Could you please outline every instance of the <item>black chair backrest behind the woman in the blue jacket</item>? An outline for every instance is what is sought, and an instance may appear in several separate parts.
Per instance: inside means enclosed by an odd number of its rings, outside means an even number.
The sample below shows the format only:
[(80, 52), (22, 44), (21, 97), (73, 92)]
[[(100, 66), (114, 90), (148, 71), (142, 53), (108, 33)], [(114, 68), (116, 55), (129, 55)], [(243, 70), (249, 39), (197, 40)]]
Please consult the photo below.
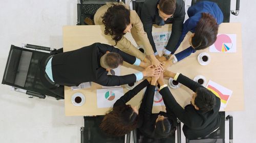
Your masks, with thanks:
[(223, 16), (224, 16), (223, 22), (229, 22), (229, 20), (230, 20), (230, 1), (231, 0), (225, 0), (225, 1), (223, 1), (223, 0), (193, 0), (193, 1), (191, 1), (191, 6), (200, 1), (210, 1), (210, 2), (217, 3), (223, 13)]

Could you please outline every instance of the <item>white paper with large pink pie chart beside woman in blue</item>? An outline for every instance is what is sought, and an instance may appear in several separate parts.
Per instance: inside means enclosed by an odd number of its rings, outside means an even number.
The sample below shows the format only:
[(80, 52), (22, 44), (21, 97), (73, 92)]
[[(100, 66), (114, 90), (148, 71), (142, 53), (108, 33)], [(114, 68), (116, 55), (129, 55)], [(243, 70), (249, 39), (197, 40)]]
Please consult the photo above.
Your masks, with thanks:
[(210, 46), (210, 52), (236, 52), (236, 34), (218, 34), (217, 40)]

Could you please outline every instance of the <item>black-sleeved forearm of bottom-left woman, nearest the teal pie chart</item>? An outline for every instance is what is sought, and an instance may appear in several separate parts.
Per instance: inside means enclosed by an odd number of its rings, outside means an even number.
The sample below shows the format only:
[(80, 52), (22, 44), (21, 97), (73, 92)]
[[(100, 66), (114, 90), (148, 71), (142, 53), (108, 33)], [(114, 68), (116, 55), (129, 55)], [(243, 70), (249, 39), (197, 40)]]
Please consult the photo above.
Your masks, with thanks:
[(143, 88), (146, 87), (148, 84), (148, 81), (145, 79), (142, 82), (140, 82), (134, 89), (126, 92), (121, 98), (119, 98), (115, 104), (115, 106), (124, 105), (128, 101), (130, 101), (135, 95), (137, 95)]

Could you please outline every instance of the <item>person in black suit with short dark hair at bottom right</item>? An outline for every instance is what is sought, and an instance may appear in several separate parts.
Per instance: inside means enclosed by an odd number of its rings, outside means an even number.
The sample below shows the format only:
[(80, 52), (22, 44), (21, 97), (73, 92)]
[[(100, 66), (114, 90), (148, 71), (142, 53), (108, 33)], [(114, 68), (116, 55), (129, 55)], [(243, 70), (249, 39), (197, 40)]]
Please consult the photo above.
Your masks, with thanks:
[(191, 103), (183, 109), (170, 93), (167, 85), (163, 81), (163, 75), (160, 75), (158, 83), (160, 84), (159, 93), (163, 97), (166, 108), (172, 110), (177, 118), (183, 122), (183, 132), (186, 138), (196, 139), (204, 137), (220, 126), (220, 105), (221, 101), (215, 94), (204, 88), (198, 82), (189, 79), (182, 74), (175, 74), (170, 71), (166, 75), (174, 78), (189, 89), (193, 90)]

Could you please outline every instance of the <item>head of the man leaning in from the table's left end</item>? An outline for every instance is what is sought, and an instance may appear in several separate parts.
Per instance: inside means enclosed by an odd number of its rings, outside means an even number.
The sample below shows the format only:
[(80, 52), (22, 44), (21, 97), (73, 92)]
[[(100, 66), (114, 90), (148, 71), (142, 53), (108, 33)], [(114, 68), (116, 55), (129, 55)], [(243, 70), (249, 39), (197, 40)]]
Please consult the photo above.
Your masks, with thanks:
[(100, 58), (100, 65), (105, 69), (115, 69), (123, 64), (123, 58), (119, 53), (106, 52)]

